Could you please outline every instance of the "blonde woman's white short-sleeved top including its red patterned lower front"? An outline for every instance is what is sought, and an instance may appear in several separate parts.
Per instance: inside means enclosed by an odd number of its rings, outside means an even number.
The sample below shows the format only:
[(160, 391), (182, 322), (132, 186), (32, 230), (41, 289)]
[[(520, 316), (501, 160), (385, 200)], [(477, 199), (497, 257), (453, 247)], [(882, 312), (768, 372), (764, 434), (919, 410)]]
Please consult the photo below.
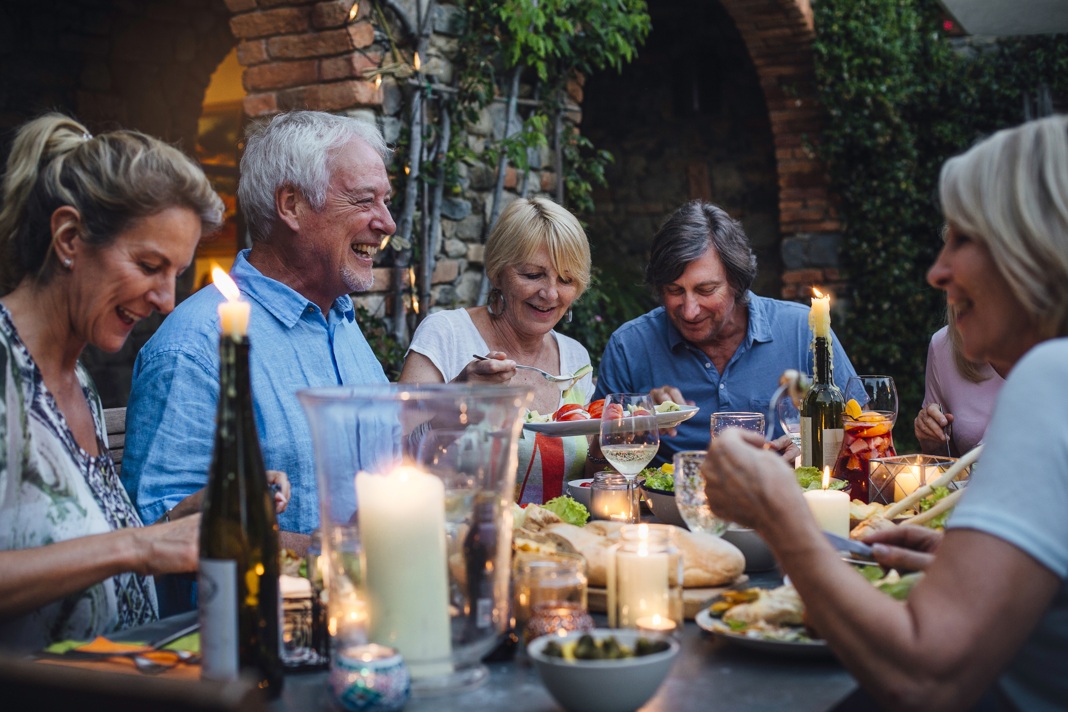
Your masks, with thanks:
[[(560, 349), (560, 371), (574, 374), (582, 366), (590, 365), (590, 353), (585, 347), (570, 336), (550, 331)], [(408, 353), (415, 351), (430, 360), (445, 382), (459, 376), (464, 367), (474, 361), (473, 354), (483, 355), (489, 351), (486, 339), (478, 333), (466, 308), (446, 310), (431, 314), (419, 325)], [(594, 393), (593, 375), (586, 374), (568, 392), (567, 402), (590, 402)], [(557, 408), (565, 402), (561, 394)], [(533, 432), (522, 431), (519, 441), (519, 471), (516, 473), (516, 501), (519, 504), (534, 502), (543, 504), (559, 494), (567, 494), (562, 482), (585, 476), (587, 442), (578, 438), (535, 438)], [(549, 472), (544, 472), (548, 469)]]

